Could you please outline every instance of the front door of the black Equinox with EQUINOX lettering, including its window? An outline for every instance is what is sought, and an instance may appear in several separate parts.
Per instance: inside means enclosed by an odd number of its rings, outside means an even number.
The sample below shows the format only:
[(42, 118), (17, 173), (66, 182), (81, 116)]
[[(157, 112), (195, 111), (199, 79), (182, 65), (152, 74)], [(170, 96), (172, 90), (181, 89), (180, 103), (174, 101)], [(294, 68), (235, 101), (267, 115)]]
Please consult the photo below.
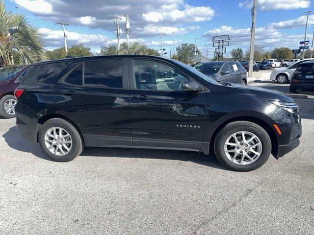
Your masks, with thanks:
[(133, 147), (200, 150), (205, 91), (183, 91), (193, 79), (163, 61), (130, 59), (128, 68)]

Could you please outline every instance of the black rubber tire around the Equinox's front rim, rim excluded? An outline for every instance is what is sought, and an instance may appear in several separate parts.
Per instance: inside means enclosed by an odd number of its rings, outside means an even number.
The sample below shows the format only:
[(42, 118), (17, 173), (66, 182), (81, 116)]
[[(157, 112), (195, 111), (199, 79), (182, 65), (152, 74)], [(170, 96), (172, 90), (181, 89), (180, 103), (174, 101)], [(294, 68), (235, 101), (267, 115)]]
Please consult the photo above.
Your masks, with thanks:
[[(240, 131), (253, 133), (262, 143), (260, 157), (251, 164), (241, 165), (233, 163), (225, 154), (224, 146), (228, 137)], [(267, 132), (261, 126), (249, 121), (235, 121), (225, 125), (215, 136), (213, 147), (218, 161), (227, 168), (235, 171), (250, 171), (261, 167), (268, 160), (271, 153), (271, 141)]]

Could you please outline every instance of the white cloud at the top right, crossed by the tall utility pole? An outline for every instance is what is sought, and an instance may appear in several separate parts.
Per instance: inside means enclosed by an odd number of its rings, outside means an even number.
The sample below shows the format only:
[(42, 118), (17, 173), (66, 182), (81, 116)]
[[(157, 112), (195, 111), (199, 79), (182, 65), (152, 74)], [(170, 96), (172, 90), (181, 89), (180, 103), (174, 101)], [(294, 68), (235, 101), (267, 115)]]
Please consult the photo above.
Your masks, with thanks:
[[(262, 11), (271, 10), (292, 10), (300, 8), (308, 8), (311, 0), (259, 0), (258, 8)], [(253, 0), (245, 0), (239, 3), (239, 7), (250, 9), (253, 6)]]

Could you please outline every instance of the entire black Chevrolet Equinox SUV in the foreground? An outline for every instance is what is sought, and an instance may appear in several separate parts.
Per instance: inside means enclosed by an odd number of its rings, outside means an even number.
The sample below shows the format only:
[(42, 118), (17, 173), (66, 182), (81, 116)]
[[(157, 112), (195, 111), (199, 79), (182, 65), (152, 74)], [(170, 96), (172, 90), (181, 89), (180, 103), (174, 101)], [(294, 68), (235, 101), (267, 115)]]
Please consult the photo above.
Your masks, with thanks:
[(86, 147), (202, 151), (253, 170), (298, 146), (301, 120), (287, 95), (217, 82), (172, 59), (141, 55), (34, 64), (16, 89), (17, 129), (66, 162)]

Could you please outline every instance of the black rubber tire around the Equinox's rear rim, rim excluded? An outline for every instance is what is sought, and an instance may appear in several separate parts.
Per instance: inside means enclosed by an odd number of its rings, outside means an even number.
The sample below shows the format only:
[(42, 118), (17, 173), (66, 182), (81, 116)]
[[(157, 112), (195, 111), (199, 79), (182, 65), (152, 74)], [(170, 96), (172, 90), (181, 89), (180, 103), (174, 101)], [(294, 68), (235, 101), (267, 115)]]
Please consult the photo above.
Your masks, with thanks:
[[(60, 127), (68, 132), (71, 136), (72, 147), (68, 153), (63, 156), (53, 154), (48, 150), (45, 144), (45, 134), (52, 127)], [(61, 118), (52, 118), (46, 121), (39, 130), (38, 141), (43, 152), (57, 162), (69, 162), (75, 159), (84, 149), (84, 143), (76, 127), (68, 121)]]

